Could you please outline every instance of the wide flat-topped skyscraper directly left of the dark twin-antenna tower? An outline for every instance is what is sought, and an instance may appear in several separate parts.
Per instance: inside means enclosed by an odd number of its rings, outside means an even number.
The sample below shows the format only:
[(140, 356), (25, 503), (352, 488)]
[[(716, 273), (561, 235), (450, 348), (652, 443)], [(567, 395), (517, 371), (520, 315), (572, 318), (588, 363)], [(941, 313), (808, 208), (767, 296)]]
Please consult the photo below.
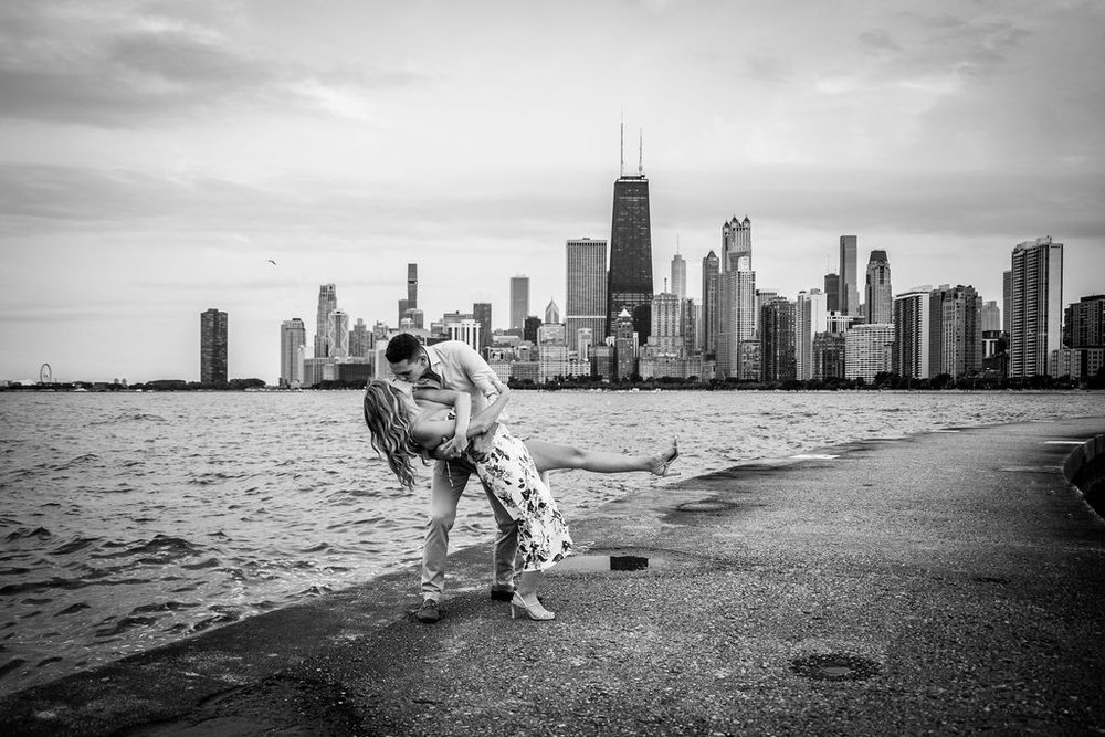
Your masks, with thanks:
[(602, 343), (607, 336), (607, 242), (569, 239), (565, 242), (565, 263), (564, 324), (569, 348), (582, 354), (579, 330), (589, 329), (594, 343)]

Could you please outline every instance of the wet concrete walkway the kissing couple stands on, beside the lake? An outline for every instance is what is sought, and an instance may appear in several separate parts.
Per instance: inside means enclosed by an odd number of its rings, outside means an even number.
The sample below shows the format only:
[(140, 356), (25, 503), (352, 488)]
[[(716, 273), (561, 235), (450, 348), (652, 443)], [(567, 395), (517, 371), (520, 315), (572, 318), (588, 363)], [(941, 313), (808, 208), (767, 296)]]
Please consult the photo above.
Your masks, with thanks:
[(435, 625), (406, 617), (404, 570), (15, 694), (0, 731), (1103, 733), (1105, 523), (1063, 470), (1102, 433), (965, 429), (644, 482), (569, 520), (590, 549), (548, 577), (552, 622), (488, 599), (480, 547), (451, 556)]

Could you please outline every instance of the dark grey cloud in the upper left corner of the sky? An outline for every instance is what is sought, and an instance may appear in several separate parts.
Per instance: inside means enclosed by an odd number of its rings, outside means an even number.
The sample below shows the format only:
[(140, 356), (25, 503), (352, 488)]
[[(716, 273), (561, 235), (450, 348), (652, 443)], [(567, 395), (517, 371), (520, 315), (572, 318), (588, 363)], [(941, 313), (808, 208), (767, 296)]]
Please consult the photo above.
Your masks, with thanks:
[(4, 4), (0, 45), (0, 117), (109, 128), (233, 108), (364, 117), (352, 98), (419, 78), (312, 69), (211, 25), (113, 3)]

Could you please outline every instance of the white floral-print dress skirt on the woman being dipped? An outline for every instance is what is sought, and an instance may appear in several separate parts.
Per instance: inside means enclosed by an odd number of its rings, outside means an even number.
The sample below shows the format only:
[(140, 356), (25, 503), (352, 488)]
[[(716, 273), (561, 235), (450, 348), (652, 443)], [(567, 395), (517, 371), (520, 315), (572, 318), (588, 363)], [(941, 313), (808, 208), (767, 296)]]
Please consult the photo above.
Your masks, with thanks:
[(525, 444), (498, 424), (491, 450), (470, 448), (469, 459), (480, 481), (518, 520), (522, 569), (545, 570), (562, 560), (571, 550), (568, 525)]

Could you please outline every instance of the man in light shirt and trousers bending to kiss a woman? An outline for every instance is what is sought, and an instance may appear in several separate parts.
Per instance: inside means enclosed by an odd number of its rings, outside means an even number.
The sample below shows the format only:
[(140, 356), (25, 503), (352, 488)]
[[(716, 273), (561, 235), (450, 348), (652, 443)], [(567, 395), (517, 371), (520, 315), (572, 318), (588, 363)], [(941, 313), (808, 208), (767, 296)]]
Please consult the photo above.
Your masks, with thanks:
[[(490, 403), (488, 397), (498, 393), (495, 388), (498, 377), (487, 366), (487, 361), (466, 343), (446, 340), (423, 346), (413, 335), (400, 333), (388, 341), (383, 355), (391, 365), (391, 372), (403, 381), (467, 392), (472, 397), (470, 430), (474, 429), (477, 433), (488, 430), (491, 425), (486, 420), (481, 422), (480, 414)], [(439, 459), (434, 464), (430, 486), (430, 520), (427, 523), (422, 547), (422, 606), (415, 612), (420, 622), (432, 623), (441, 619), (449, 533), (456, 519), (456, 504), (464, 493), (469, 476), (474, 473), (472, 464), (459, 454)], [(514, 597), (517, 523), (486, 486), (484, 492), (491, 502), (499, 530), (495, 543), (495, 578), (491, 596), (493, 599), (509, 601)]]

